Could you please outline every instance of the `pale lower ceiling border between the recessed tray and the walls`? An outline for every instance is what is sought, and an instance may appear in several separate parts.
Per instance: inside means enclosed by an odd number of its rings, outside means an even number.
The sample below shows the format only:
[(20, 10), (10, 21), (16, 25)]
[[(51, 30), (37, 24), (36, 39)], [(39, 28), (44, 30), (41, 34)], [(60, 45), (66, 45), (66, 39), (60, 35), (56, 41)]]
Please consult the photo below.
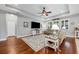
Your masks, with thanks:
[[(5, 7), (5, 6), (10, 7), (10, 8), (14, 8), (14, 9), (16, 9), (16, 11), (7, 9), (7, 7)], [(30, 19), (34, 19), (34, 20), (37, 20), (37, 21), (49, 21), (49, 20), (56, 19), (56, 18), (66, 18), (66, 17), (70, 17), (70, 16), (73, 16), (73, 15), (79, 14), (79, 13), (75, 13), (75, 14), (70, 13), (69, 6), (66, 5), (66, 7), (68, 9), (67, 11), (65, 11), (63, 13), (59, 13), (57, 15), (53, 15), (53, 16), (49, 16), (49, 17), (43, 17), (45, 20), (41, 20), (42, 17), (37, 16), (35, 14), (32, 14), (31, 12), (28, 12), (26, 10), (23, 10), (18, 6), (14, 6), (14, 5), (10, 5), (10, 4), (5, 4), (3, 7), (0, 6), (0, 10), (5, 12), (5, 13), (15, 14), (15, 15), (18, 15), (20, 17), (30, 18)]]

